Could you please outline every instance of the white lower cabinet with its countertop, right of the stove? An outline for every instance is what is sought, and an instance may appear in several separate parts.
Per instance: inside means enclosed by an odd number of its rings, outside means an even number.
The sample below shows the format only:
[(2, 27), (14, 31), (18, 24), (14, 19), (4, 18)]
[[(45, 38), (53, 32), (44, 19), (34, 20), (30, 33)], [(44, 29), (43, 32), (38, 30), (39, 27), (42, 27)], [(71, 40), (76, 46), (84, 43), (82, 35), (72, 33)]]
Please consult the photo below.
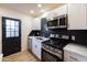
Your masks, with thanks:
[(87, 62), (87, 47), (68, 44), (64, 47), (65, 62)]

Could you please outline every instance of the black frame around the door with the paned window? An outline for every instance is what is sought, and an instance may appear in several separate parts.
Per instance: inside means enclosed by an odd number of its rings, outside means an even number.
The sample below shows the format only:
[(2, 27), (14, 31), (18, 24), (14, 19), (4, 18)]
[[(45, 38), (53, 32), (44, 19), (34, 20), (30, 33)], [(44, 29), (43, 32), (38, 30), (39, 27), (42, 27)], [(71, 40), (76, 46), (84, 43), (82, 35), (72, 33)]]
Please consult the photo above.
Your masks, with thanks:
[(21, 40), (22, 40), (22, 37), (21, 37), (21, 35), (22, 35), (22, 33), (21, 33), (21, 32), (22, 32), (21, 20), (20, 20), (20, 19), (14, 19), (14, 18), (1, 17), (1, 21), (2, 21), (2, 22), (1, 22), (1, 24), (2, 24), (2, 25), (1, 25), (1, 29), (2, 29), (2, 30), (1, 30), (1, 31), (2, 31), (2, 37), (1, 37), (1, 39), (2, 39), (2, 44), (1, 44), (1, 50), (2, 50), (2, 53), (3, 53), (3, 39), (4, 39), (4, 37), (3, 37), (3, 21), (4, 21), (4, 19), (14, 20), (14, 21), (19, 21), (19, 22), (20, 22), (20, 25), (19, 25), (19, 26), (20, 26), (20, 30), (19, 30), (19, 31), (20, 31), (20, 45), (21, 45), (20, 52), (21, 52), (21, 50), (22, 50), (22, 43), (21, 43)]

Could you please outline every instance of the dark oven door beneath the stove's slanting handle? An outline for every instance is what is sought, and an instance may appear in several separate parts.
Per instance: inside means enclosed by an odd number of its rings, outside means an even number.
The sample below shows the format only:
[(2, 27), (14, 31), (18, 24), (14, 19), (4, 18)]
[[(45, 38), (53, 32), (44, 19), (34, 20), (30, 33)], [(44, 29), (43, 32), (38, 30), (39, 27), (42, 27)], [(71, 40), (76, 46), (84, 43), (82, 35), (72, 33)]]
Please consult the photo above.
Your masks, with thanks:
[(61, 62), (61, 59), (42, 48), (42, 62)]

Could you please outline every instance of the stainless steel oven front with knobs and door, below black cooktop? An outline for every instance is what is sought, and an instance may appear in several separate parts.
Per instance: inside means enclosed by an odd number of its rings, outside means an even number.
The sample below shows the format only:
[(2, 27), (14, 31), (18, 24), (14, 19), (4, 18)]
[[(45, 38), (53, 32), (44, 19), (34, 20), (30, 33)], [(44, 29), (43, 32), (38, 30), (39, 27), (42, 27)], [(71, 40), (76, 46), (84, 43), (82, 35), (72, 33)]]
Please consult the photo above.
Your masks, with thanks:
[(43, 62), (62, 62), (63, 50), (58, 50), (47, 44), (42, 44), (42, 61)]

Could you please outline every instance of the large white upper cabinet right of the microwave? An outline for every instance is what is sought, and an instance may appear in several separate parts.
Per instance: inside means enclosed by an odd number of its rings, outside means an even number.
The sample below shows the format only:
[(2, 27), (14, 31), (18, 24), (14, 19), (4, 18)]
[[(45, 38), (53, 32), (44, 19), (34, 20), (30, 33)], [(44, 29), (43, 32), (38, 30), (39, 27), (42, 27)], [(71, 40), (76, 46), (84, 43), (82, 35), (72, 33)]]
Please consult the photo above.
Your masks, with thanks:
[(87, 29), (87, 4), (70, 3), (68, 4), (68, 30)]

